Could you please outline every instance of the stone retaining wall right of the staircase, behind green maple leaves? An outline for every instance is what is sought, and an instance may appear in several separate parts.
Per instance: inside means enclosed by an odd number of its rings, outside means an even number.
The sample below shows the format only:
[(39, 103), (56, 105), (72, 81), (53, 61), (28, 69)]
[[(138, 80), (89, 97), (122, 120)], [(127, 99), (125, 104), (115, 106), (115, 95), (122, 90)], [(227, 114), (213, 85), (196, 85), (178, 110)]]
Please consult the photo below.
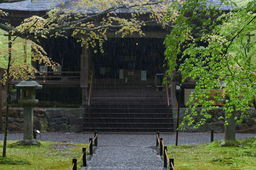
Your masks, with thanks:
[[(197, 112), (197, 116), (193, 116), (193, 119), (195, 120), (195, 122), (193, 122), (193, 125), (191, 126), (187, 126), (187, 124), (185, 124), (185, 130), (179, 130), (179, 131), (183, 131), (183, 132), (208, 132), (211, 131), (211, 129), (214, 129), (214, 131), (224, 131), (225, 127), (224, 127), (224, 122), (225, 122), (225, 112), (223, 112), (223, 108), (220, 107), (218, 109), (212, 109), (210, 111), (207, 111), (208, 114), (210, 114), (212, 116), (211, 119), (206, 119), (206, 124), (204, 124), (203, 126), (199, 127), (198, 129), (194, 129), (193, 126), (199, 122), (201, 120), (201, 118), (203, 118), (203, 116), (200, 115), (200, 111), (202, 110), (202, 108), (196, 108), (196, 112)], [(178, 109), (177, 108), (173, 108), (173, 121), (174, 121), (174, 127), (177, 127), (177, 112)], [(184, 118), (184, 113), (186, 111), (186, 108), (180, 108), (180, 117), (179, 117), (179, 124), (182, 122), (182, 119)], [(189, 112), (191, 112), (189, 110)], [(238, 111), (236, 113), (236, 116), (238, 117), (238, 119), (240, 119), (240, 115), (241, 113)], [(236, 130), (245, 130), (245, 129), (250, 129), (253, 127), (256, 127), (256, 110), (254, 107), (251, 107), (248, 110), (248, 115), (246, 118), (242, 119), (242, 123), (237, 124), (236, 123)], [(222, 116), (222, 119), (218, 120), (219, 117)], [(253, 133), (256, 134), (256, 128), (255, 129), (251, 129), (251, 130), (245, 130), (245, 131), (241, 131), (240, 133)]]

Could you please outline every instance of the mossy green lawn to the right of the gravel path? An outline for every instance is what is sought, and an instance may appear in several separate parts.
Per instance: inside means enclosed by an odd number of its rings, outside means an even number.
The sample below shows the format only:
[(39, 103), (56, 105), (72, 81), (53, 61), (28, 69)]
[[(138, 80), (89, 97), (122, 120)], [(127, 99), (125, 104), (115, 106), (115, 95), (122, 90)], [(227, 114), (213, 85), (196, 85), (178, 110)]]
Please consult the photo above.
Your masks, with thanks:
[(221, 147), (221, 141), (198, 145), (168, 145), (176, 170), (256, 170), (254, 138), (240, 140), (242, 147)]

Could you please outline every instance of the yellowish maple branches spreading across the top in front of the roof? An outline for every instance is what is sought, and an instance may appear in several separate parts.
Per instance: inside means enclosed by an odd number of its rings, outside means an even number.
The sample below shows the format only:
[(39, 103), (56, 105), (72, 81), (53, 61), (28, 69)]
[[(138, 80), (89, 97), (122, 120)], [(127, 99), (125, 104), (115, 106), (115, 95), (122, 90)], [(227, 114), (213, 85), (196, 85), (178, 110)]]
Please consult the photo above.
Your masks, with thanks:
[[(33, 16), (24, 20), (23, 29), (30, 27), (27, 34), (37, 36), (71, 36), (81, 37), (86, 48), (95, 47), (99, 41), (99, 49), (107, 40), (106, 33), (114, 32), (121, 37), (138, 33), (143, 36), (142, 27), (147, 24), (160, 25), (163, 28), (173, 27), (177, 10), (167, 20), (163, 20), (168, 5), (172, 0), (81, 0), (74, 1), (69, 9), (54, 8), (46, 16)], [(60, 1), (61, 3), (61, 1)], [(33, 25), (33, 26), (32, 26)], [(0, 24), (5, 31), (18, 30), (11, 25)], [(79, 36), (77, 36), (79, 35)], [(97, 51), (95, 51), (97, 52)]]

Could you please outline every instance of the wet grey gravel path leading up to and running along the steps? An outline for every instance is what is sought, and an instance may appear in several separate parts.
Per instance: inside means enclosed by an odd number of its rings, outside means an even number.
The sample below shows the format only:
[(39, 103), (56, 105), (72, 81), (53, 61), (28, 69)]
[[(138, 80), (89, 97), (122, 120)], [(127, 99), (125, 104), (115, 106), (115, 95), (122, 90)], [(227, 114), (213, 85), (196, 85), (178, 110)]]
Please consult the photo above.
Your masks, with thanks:
[[(191, 135), (197, 133), (179, 133), (179, 135)], [(175, 134), (173, 134), (175, 135)], [(179, 136), (178, 145), (197, 144), (210, 142), (210, 133)], [(253, 138), (255, 134), (236, 134), (237, 139)], [(8, 134), (8, 140), (22, 139), (23, 134)], [(55, 142), (89, 143), (89, 138), (94, 135), (49, 134), (41, 133), (38, 140)], [(175, 145), (175, 136), (161, 135), (164, 145)], [(224, 133), (215, 133), (214, 141), (221, 141)], [(4, 134), (0, 134), (0, 140)], [(93, 156), (88, 156), (87, 168), (83, 170), (162, 170), (163, 161), (155, 149), (155, 135), (138, 134), (98, 134), (98, 147), (94, 147)]]

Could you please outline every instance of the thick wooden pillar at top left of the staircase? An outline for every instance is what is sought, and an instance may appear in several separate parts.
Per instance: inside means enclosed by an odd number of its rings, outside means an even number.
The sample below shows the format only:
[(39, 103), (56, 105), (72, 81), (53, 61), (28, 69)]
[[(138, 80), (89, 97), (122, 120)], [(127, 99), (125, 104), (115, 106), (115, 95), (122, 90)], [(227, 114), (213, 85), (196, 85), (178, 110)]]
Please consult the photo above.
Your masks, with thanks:
[(88, 87), (88, 72), (89, 72), (89, 58), (90, 52), (86, 47), (82, 47), (81, 55), (81, 71), (80, 71), (80, 87), (82, 90), (82, 106), (86, 104), (87, 87)]

